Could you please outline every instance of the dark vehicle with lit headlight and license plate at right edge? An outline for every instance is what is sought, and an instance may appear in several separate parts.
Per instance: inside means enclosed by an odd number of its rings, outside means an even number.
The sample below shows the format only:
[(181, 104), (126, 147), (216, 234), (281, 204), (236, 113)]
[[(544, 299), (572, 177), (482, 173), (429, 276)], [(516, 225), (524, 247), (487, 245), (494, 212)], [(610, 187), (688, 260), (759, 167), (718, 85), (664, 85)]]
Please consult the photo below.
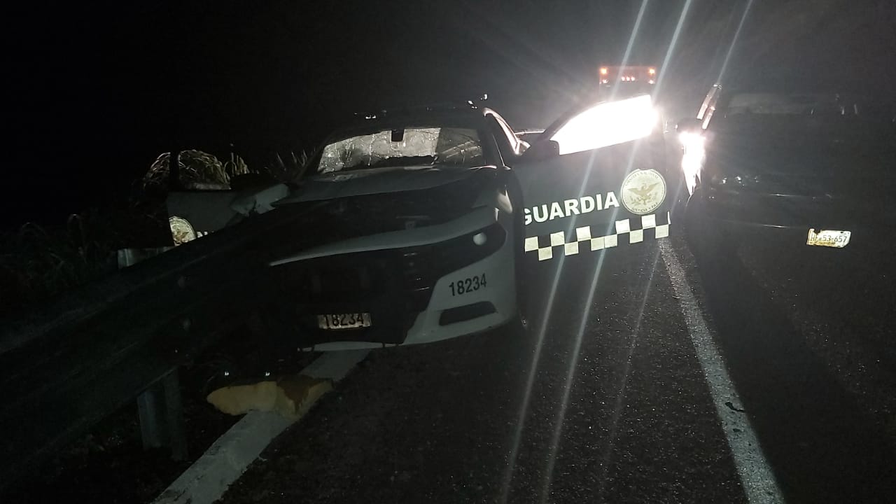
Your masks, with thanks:
[(696, 248), (745, 236), (829, 248), (890, 239), (892, 103), (849, 92), (755, 89), (716, 85), (697, 117), (678, 125)]

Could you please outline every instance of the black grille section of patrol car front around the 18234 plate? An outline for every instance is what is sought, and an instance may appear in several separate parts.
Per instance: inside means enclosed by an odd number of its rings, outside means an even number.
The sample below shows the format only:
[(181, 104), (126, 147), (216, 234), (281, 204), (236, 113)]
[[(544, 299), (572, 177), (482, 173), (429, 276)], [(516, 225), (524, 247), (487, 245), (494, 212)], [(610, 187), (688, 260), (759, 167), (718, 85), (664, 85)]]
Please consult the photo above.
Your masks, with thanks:
[[(486, 243), (466, 234), (435, 245), (327, 256), (271, 267), (278, 296), (271, 315), (284, 337), (308, 345), (332, 341), (402, 343), (426, 309), (435, 282), (444, 274), (495, 252), (506, 239), (494, 224), (479, 230)], [(327, 331), (317, 315), (370, 313), (371, 327)]]

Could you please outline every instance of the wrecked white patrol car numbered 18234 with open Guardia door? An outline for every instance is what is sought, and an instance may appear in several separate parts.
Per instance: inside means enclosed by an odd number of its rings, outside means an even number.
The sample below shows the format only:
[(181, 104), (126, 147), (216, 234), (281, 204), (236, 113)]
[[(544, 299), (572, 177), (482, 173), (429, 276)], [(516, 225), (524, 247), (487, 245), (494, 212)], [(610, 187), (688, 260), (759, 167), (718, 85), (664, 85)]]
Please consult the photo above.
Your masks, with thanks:
[(330, 135), (295, 185), (231, 198), (220, 212), (173, 194), (169, 214), (208, 232), (234, 211), (301, 213), (263, 301), (271, 334), (293, 348), (524, 326), (524, 264), (596, 260), (668, 236), (665, 164), (651, 158), (663, 150), (642, 145), (656, 138), (653, 114), (648, 95), (591, 105), (530, 146), (487, 108), (381, 113)]

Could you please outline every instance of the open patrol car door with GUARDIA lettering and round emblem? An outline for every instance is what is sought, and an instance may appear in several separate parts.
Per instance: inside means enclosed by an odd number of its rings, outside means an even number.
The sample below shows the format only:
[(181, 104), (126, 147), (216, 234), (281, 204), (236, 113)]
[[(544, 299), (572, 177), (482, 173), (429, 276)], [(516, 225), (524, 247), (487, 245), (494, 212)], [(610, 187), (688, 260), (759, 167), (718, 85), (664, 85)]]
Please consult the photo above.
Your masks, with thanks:
[(670, 232), (663, 135), (649, 95), (573, 110), (514, 163), (524, 260), (625, 255)]

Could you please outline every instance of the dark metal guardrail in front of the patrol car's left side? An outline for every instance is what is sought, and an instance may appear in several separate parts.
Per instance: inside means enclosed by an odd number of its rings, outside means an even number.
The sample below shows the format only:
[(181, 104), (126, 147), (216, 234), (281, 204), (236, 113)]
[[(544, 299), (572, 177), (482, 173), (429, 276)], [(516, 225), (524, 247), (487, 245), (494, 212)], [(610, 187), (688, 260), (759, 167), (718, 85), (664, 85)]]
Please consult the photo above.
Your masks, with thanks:
[(240, 222), (0, 329), (0, 488), (246, 320), (299, 214)]

